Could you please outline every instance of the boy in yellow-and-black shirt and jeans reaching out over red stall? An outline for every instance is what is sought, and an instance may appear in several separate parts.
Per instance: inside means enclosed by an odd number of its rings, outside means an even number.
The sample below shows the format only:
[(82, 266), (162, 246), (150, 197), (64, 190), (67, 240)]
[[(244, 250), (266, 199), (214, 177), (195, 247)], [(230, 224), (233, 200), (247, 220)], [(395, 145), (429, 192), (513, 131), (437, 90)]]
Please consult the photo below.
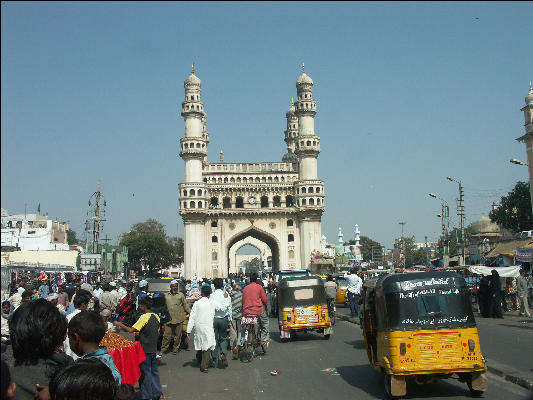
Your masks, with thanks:
[(122, 322), (114, 322), (115, 326), (139, 335), (141, 346), (146, 354), (146, 360), (141, 364), (141, 379), (139, 380), (141, 399), (143, 400), (158, 400), (163, 395), (156, 358), (157, 341), (159, 338), (159, 317), (157, 314), (151, 312), (151, 309), (152, 298), (145, 296), (139, 300), (139, 310), (143, 314), (131, 328)]

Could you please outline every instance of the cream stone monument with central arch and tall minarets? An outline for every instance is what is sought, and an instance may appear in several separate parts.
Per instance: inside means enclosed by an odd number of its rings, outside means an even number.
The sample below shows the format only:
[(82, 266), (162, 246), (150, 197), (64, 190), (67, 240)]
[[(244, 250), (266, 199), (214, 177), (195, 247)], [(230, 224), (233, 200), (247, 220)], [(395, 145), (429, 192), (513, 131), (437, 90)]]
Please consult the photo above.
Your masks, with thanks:
[(281, 162), (225, 163), (222, 154), (218, 163), (207, 161), (209, 133), (194, 66), (184, 86), (180, 156), (185, 182), (179, 186), (179, 213), (185, 276), (237, 272), (230, 253), (247, 242), (268, 247), (274, 271), (307, 268), (311, 252), (320, 248), (325, 207), (324, 182), (317, 177), (320, 138), (314, 128), (313, 80), (305, 69), (296, 80), (298, 100), (286, 114), (287, 153)]

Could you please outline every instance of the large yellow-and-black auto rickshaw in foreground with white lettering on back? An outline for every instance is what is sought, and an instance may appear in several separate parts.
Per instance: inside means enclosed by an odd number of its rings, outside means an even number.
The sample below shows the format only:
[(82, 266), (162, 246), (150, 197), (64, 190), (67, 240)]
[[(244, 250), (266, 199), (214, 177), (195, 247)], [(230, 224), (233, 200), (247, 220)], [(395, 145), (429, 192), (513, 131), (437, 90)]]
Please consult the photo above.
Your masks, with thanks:
[(363, 284), (363, 336), (370, 364), (385, 374), (391, 398), (449, 378), (473, 395), (487, 390), (487, 366), (465, 280), (454, 272), (383, 275)]

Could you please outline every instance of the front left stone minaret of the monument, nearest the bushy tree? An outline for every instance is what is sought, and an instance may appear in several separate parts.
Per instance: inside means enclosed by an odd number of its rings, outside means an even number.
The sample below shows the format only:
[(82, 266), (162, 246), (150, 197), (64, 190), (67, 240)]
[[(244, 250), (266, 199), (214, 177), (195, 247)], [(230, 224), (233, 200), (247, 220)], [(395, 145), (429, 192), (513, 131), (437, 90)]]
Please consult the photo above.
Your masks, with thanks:
[(180, 140), (180, 157), (185, 161), (185, 179), (180, 185), (180, 214), (185, 230), (185, 276), (204, 275), (205, 230), (203, 218), (207, 208), (206, 185), (202, 180), (202, 165), (207, 159), (209, 135), (206, 114), (201, 101), (202, 82), (192, 72), (183, 84), (185, 101), (181, 116), (185, 120), (185, 137)]

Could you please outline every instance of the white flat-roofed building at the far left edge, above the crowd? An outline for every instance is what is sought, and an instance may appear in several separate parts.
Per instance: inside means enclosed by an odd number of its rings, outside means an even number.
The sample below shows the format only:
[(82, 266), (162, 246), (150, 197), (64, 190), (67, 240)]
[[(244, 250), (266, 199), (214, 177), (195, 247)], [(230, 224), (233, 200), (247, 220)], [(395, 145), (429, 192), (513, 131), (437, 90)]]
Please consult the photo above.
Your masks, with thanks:
[(68, 224), (39, 214), (15, 214), (2, 209), (2, 248), (68, 250)]

